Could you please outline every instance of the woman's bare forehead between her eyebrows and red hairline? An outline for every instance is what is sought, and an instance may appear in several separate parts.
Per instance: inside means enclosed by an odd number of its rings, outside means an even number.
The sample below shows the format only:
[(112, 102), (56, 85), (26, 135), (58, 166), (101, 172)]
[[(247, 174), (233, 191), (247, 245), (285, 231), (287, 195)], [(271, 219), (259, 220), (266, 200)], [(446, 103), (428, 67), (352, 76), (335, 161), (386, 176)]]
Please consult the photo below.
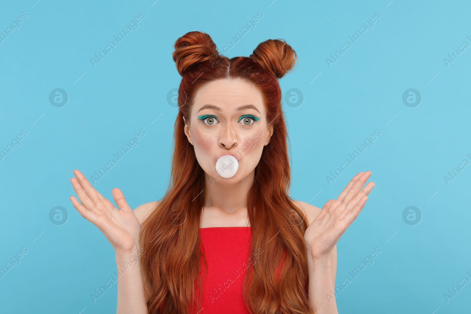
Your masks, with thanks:
[(215, 80), (203, 85), (195, 95), (194, 110), (203, 105), (217, 105), (222, 109), (252, 104), (264, 110), (263, 97), (259, 89), (241, 79)]

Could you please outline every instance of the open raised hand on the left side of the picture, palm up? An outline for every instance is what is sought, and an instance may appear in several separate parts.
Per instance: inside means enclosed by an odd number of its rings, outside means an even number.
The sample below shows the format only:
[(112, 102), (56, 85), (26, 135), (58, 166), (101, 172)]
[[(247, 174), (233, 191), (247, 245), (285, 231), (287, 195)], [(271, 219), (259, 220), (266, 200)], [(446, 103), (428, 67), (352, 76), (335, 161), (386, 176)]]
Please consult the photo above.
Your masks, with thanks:
[(73, 196), (69, 199), (73, 207), (106, 236), (116, 253), (128, 254), (139, 250), (141, 225), (134, 211), (129, 207), (120, 189), (111, 192), (119, 209), (93, 188), (87, 178), (77, 169), (70, 179), (81, 203)]

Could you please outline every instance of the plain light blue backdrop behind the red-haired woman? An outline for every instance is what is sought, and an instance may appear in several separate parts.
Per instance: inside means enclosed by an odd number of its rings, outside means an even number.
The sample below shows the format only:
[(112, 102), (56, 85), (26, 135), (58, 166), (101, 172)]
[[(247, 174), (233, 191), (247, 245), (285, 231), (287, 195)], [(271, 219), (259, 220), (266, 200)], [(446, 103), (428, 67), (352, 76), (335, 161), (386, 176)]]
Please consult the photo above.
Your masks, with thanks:
[[(72, 170), (92, 176), (143, 129), (95, 187), (110, 200), (121, 188), (133, 208), (160, 199), (177, 114), (166, 99), (181, 79), (173, 43), (198, 30), (222, 52), (261, 12), (227, 56), (249, 56), (277, 38), (299, 56), (280, 80), (284, 93), (296, 88), (305, 97), (297, 108), (284, 104), (292, 197), (322, 207), (359, 171), (371, 170), (376, 183), (338, 243), (336, 282), (352, 278), (374, 248), (381, 253), (339, 293), (339, 313), (463, 313), (471, 283), (448, 303), (444, 294), (471, 280), (471, 167), (448, 185), (444, 176), (471, 161), (471, 48), (448, 67), (444, 58), (471, 44), (470, 9), (444, 0), (3, 1), (0, 31), (22, 12), (28, 17), (0, 43), (0, 148), (23, 129), (28, 135), (0, 161), (0, 266), (23, 247), (28, 253), (0, 279), (0, 312), (115, 313), (116, 284), (96, 303), (90, 297), (116, 264), (106, 238), (69, 201)], [(90, 58), (139, 12), (146, 17), (138, 29), (93, 67)], [(374, 28), (352, 43), (349, 35), (375, 12)], [(325, 59), (347, 40), (352, 47), (329, 67)], [(56, 88), (69, 95), (62, 108), (49, 103)], [(422, 94), (415, 108), (402, 102), (409, 88)], [(329, 185), (326, 176), (375, 130), (374, 146)], [(55, 206), (68, 211), (64, 225), (49, 220)], [(421, 210), (419, 224), (403, 221), (408, 206)]]

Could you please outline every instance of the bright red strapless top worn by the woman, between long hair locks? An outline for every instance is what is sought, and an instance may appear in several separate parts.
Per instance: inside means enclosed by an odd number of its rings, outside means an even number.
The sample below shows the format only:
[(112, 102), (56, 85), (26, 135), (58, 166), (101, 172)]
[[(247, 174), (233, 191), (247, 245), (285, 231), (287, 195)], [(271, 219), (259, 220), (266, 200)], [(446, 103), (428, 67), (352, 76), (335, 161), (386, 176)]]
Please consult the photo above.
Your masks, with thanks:
[[(242, 297), (244, 276), (249, 265), (253, 267), (260, 256), (250, 256), (251, 227), (200, 228), (200, 234), (208, 272), (202, 277), (202, 303), (198, 314), (249, 314)], [(252, 259), (249, 261), (249, 258)], [(203, 259), (201, 267), (203, 276)], [(280, 267), (276, 279), (279, 274)]]

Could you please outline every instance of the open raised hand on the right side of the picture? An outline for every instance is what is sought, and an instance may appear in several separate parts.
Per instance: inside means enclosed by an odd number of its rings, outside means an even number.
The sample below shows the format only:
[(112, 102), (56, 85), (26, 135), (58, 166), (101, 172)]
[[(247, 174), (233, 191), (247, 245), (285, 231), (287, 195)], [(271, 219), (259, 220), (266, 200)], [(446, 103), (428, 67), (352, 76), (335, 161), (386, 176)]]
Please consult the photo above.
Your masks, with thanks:
[[(304, 233), (304, 242), (308, 255), (314, 259), (330, 258), (330, 254), (341, 235), (349, 225), (357, 218), (365, 202), (368, 193), (374, 186), (369, 182), (362, 190), (371, 171), (359, 172), (337, 200), (329, 200), (325, 203), (321, 212), (309, 224)], [(361, 191), (360, 191), (361, 190)]]

